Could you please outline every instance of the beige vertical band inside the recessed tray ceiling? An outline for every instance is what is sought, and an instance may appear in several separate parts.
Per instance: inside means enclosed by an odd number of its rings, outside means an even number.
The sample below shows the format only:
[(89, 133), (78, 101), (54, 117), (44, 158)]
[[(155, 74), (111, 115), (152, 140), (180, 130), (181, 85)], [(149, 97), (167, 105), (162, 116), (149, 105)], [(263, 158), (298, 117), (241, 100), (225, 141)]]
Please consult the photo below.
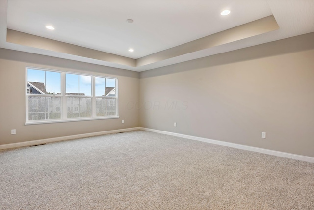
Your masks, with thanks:
[(194, 53), (204, 49), (210, 49), (215, 46), (228, 44), (241, 39), (257, 36), (273, 30), (279, 29), (279, 26), (273, 15), (236, 26), (209, 36), (144, 56), (139, 59), (132, 59), (116, 54), (105, 53), (65, 42), (60, 42), (40, 36), (35, 36), (11, 29), (7, 29), (7, 39), (9, 43), (48, 50), (57, 53), (96, 59), (108, 63), (114, 63), (126, 67), (143, 67), (163, 60), (179, 57), (185, 54)]

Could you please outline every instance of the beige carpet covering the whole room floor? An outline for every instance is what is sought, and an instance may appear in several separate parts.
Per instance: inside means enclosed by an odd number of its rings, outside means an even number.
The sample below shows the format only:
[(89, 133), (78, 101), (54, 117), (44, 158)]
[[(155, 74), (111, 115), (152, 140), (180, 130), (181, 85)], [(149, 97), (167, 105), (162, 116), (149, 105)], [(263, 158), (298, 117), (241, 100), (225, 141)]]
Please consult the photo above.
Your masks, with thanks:
[(1, 210), (314, 210), (314, 164), (148, 131), (0, 151)]

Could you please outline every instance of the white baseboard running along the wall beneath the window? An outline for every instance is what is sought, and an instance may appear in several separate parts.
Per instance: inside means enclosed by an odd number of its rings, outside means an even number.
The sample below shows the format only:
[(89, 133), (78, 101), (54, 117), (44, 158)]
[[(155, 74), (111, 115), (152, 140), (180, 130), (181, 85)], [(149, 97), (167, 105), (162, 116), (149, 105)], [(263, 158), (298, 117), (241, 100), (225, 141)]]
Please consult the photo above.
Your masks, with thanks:
[(46, 144), (46, 143), (64, 141), (64, 140), (70, 140), (70, 139), (76, 139), (76, 138), (85, 138), (85, 137), (96, 136), (96, 135), (105, 135), (105, 134), (117, 133), (117, 132), (134, 131), (134, 130), (139, 130), (139, 129), (140, 127), (134, 127), (134, 128), (128, 128), (128, 129), (100, 131), (100, 132), (84, 133), (84, 134), (78, 134), (78, 135), (68, 135), (68, 136), (62, 136), (62, 137), (56, 137), (56, 138), (46, 138), (46, 139), (33, 140), (33, 141), (24, 141), (24, 142), (12, 143), (12, 144), (2, 144), (0, 145), (0, 150), (15, 148), (15, 147), (25, 147), (25, 146), (31, 146), (31, 145), (37, 145), (37, 144)]

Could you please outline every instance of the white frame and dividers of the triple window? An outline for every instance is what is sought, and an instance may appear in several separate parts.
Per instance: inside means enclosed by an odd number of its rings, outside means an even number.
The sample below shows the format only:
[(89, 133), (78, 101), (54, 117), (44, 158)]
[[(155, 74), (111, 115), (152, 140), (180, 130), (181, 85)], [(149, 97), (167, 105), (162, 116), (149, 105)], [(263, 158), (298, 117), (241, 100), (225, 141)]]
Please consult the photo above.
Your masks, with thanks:
[[(27, 91), (27, 70), (28, 69), (35, 69), (35, 70), (41, 70), (41, 71), (52, 71), (52, 72), (59, 72), (61, 73), (61, 95), (42, 95), (42, 94), (30, 94), (29, 91)], [(85, 120), (99, 120), (99, 119), (114, 119), (119, 118), (119, 103), (118, 103), (118, 78), (115, 77), (108, 77), (106, 75), (97, 74), (97, 75), (91, 75), (87, 72), (69, 72), (69, 71), (60, 71), (60, 70), (53, 70), (53, 69), (45, 69), (45, 68), (38, 68), (38, 67), (31, 67), (26, 66), (26, 74), (25, 74), (25, 80), (26, 80), (26, 87), (25, 87), (25, 96), (26, 96), (26, 118), (25, 118), (25, 125), (31, 125), (31, 124), (45, 124), (45, 123), (58, 123), (58, 122), (70, 122), (70, 121), (85, 121)], [(66, 95), (66, 79), (65, 75), (66, 73), (69, 74), (77, 74), (77, 75), (86, 75), (92, 77), (92, 94), (91, 96), (79, 96), (79, 95)], [(115, 79), (115, 91), (116, 96), (115, 97), (99, 97), (95, 96), (95, 78), (96, 77), (102, 77), (102, 78), (108, 78), (108, 79)], [(46, 97), (59, 97), (61, 98), (60, 103), (60, 112), (61, 112), (61, 119), (46, 119), (46, 120), (32, 120), (28, 119), (28, 97), (29, 96), (46, 96)], [(73, 96), (73, 97), (83, 97), (83, 98), (91, 98), (91, 117), (77, 117), (77, 118), (67, 118), (67, 97)], [(96, 98), (113, 98), (116, 101), (116, 115), (110, 115), (110, 116), (96, 116)], [(71, 107), (68, 107), (71, 108)], [(74, 111), (74, 110), (72, 110)], [(59, 111), (56, 111), (59, 112)]]

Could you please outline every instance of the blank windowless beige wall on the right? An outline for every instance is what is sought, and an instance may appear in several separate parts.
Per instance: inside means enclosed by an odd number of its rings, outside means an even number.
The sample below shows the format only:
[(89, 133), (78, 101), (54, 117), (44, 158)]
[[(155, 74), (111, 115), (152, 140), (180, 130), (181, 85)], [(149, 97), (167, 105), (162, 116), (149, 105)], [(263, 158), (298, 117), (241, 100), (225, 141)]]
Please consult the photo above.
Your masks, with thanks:
[(314, 157), (314, 33), (307, 37), (141, 72), (140, 126)]

